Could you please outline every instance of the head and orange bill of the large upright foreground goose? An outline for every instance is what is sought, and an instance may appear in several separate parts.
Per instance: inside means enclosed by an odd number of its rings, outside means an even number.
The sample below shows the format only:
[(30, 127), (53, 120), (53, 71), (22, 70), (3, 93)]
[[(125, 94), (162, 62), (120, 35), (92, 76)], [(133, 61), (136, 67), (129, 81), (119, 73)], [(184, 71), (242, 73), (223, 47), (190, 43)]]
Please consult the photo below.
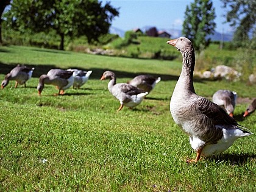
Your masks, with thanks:
[(192, 42), (186, 37), (179, 37), (179, 38), (176, 38), (175, 40), (169, 40), (166, 43), (171, 44), (180, 52), (193, 49)]

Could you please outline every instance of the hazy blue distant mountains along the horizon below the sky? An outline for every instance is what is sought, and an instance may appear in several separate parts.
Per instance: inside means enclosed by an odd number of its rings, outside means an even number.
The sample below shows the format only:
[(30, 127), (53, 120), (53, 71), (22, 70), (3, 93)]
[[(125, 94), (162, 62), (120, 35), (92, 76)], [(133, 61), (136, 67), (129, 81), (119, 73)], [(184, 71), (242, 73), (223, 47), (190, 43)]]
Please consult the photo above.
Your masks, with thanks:
[[(141, 27), (140, 29), (143, 32), (146, 32), (146, 30), (150, 29), (151, 27), (153, 26), (144, 26), (144, 27)], [(168, 34), (171, 34), (171, 38), (178, 38), (182, 36), (182, 30), (180, 29), (158, 29), (158, 30), (165, 30), (166, 32), (168, 32)], [(118, 34), (119, 37), (124, 37), (125, 33), (126, 31), (124, 30), (118, 29), (116, 27), (110, 27), (110, 34)], [(217, 31), (215, 31), (213, 35), (209, 35), (212, 41), (221, 41), (221, 38), (223, 38), (223, 41), (231, 41), (233, 38), (233, 34), (224, 34), (223, 37), (221, 36), (222, 34)]]

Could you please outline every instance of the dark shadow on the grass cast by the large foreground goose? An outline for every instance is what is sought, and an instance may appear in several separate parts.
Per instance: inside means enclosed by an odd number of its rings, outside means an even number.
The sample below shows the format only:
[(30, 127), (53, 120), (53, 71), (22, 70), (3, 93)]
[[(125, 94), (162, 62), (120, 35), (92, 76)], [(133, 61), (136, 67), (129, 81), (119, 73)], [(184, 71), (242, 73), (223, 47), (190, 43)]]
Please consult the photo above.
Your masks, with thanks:
[(248, 160), (255, 158), (255, 154), (219, 154), (209, 157), (210, 160), (215, 160), (215, 162), (230, 162), (232, 165), (243, 165)]

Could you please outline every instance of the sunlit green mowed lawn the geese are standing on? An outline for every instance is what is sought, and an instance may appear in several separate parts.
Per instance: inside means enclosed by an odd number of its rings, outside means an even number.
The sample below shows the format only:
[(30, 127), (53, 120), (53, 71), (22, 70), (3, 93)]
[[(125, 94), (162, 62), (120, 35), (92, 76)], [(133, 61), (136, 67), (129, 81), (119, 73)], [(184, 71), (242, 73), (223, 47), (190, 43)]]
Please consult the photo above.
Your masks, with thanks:
[[(255, 191), (255, 135), (186, 163), (196, 154), (169, 112), (181, 60), (0, 47), (1, 81), (17, 64), (35, 71), (27, 88), (10, 81), (0, 90), (0, 191)], [(46, 85), (40, 97), (38, 77), (51, 68), (93, 73), (79, 90), (54, 96), (58, 90)], [(108, 80), (99, 80), (105, 70), (114, 71), (118, 83), (138, 74), (162, 80), (133, 110), (116, 112), (119, 101), (108, 92)], [(219, 89), (236, 91), (242, 102), (235, 119), (256, 133), (256, 113), (243, 118), (249, 104), (243, 101), (256, 97), (256, 85), (195, 79), (194, 87), (209, 99)]]

